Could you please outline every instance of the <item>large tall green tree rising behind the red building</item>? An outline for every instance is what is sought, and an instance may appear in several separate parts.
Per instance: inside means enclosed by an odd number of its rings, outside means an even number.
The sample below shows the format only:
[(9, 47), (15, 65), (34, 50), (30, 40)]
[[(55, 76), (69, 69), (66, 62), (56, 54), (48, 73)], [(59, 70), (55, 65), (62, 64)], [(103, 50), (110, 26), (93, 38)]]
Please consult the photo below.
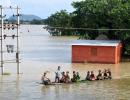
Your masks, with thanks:
[[(86, 27), (94, 29), (124, 29), (130, 28), (130, 1), (129, 0), (85, 0), (73, 2), (76, 9), (73, 18), (74, 27)], [(78, 22), (76, 22), (78, 20)], [(88, 31), (94, 38), (104, 31)], [(93, 34), (92, 34), (93, 33)], [(110, 39), (124, 40), (127, 31), (105, 32)], [(122, 36), (123, 35), (123, 36)], [(125, 37), (126, 38), (126, 37)]]

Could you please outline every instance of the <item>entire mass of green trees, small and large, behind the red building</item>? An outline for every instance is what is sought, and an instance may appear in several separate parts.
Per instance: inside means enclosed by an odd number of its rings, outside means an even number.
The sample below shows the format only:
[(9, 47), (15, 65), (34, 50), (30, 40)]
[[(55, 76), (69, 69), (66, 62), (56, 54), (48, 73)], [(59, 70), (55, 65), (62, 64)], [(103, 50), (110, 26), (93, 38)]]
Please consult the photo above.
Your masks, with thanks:
[[(51, 35), (79, 35), (84, 39), (95, 39), (105, 34), (109, 39), (124, 43), (123, 54), (130, 55), (130, 30), (83, 30), (130, 29), (130, 0), (84, 0), (73, 2), (74, 11), (61, 10), (44, 20)], [(51, 28), (63, 27), (63, 28)]]

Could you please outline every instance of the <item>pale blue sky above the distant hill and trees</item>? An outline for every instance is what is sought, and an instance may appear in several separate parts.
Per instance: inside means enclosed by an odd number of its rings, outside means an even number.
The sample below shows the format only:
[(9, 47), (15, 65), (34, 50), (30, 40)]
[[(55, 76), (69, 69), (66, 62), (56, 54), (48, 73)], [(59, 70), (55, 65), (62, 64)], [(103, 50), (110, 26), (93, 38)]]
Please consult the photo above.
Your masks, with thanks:
[(23, 14), (35, 14), (41, 18), (47, 18), (56, 11), (66, 9), (68, 12), (73, 11), (71, 3), (81, 0), (0, 0), (4, 6), (18, 5)]

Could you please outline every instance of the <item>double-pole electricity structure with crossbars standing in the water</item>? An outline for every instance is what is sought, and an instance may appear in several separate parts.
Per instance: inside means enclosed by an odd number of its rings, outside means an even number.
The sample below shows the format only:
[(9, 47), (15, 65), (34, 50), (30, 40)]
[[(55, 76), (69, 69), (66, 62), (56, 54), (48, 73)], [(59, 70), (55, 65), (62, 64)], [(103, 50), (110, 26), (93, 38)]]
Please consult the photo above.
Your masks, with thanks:
[[(14, 10), (16, 10), (16, 15), (15, 14), (13, 14), (13, 17), (15, 17), (16, 16), (16, 22), (14, 22), (14, 23), (12, 23), (11, 25), (12, 26), (10, 26), (10, 22), (8, 22), (8, 27), (6, 26), (6, 24), (4, 24), (4, 17), (6, 17), (6, 15), (4, 16), (3, 15), (3, 10), (4, 9), (14, 9)], [(17, 74), (20, 74), (20, 65), (19, 65), (19, 63), (20, 63), (20, 60), (19, 60), (19, 26), (20, 26), (20, 14), (19, 14), (19, 10), (20, 10), (20, 8), (17, 6), (17, 7), (12, 7), (12, 6), (10, 6), (10, 7), (3, 7), (2, 5), (0, 5), (0, 10), (1, 10), (1, 15), (0, 15), (0, 18), (1, 18), (1, 26), (0, 26), (0, 28), (1, 28), (1, 33), (0, 33), (0, 44), (1, 44), (1, 46), (0, 46), (0, 53), (1, 53), (1, 60), (0, 60), (0, 62), (1, 62), (1, 74), (3, 75), (4, 74), (4, 63), (17, 63)], [(8, 28), (8, 31), (10, 30), (10, 29), (14, 29), (14, 28), (16, 28), (16, 33), (15, 34), (13, 34), (12, 36), (11, 35), (7, 35), (6, 33), (4, 33), (4, 31), (3, 30), (5, 30), (6, 28)], [(6, 38), (12, 38), (12, 39), (14, 39), (16, 37), (16, 60), (15, 60), (15, 62), (5, 62), (4, 61), (4, 53), (3, 53), (3, 38), (4, 38), (4, 40), (6, 39)], [(10, 48), (12, 48), (13, 49), (13, 47), (12, 47), (12, 45), (7, 45), (7, 49), (8, 49), (8, 52), (10, 52)], [(11, 51), (11, 52), (13, 52), (13, 50)], [(12, 61), (14, 61), (14, 60), (12, 60)]]

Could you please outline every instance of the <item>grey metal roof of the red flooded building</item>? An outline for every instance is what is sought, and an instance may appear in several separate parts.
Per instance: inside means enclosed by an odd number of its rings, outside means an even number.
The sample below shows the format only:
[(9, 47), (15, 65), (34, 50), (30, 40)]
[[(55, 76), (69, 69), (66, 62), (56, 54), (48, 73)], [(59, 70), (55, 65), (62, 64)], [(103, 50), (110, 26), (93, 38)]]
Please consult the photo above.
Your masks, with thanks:
[(72, 45), (84, 45), (84, 46), (117, 46), (120, 40), (77, 40)]

